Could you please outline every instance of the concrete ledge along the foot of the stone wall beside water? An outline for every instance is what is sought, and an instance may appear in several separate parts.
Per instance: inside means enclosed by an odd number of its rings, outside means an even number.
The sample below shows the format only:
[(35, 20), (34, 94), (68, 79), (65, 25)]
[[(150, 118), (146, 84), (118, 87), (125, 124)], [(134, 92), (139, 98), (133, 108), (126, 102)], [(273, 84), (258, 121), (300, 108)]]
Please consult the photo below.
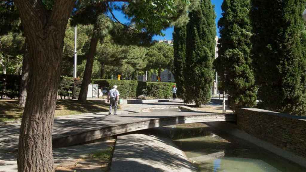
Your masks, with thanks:
[[(207, 125), (209, 126), (215, 126), (214, 124), (212, 123), (206, 123)], [(286, 151), (286, 150), (283, 150), (282, 148), (278, 148), (277, 146), (267, 142), (267, 141), (264, 141), (264, 140), (261, 140), (257, 137), (254, 137), (242, 130), (239, 130), (237, 128), (234, 128), (234, 127), (231, 127), (230, 129), (222, 129), (223, 132), (226, 132), (226, 133), (229, 133), (235, 137), (238, 137), (240, 139), (243, 139), (243, 140), (246, 140), (248, 142), (251, 142), (252, 144), (255, 144), (256, 146), (260, 147), (260, 148), (263, 148), (267, 151), (271, 151), (272, 153), (278, 155), (278, 156), (281, 156), (282, 158), (284, 159), (288, 159), (294, 163), (297, 163), (299, 164), (300, 166), (303, 166), (303, 167), (306, 167), (306, 159), (301, 157), (301, 156), (298, 156), (292, 152), (289, 152), (289, 151)]]

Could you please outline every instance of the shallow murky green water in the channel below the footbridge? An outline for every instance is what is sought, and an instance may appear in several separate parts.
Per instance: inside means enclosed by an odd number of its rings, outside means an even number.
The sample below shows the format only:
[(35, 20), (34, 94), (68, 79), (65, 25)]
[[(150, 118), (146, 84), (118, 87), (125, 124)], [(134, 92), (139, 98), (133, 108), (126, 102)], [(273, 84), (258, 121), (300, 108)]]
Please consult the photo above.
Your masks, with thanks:
[[(305, 168), (278, 155), (225, 133), (173, 141), (190, 160), (194, 158), (198, 160), (194, 163), (201, 172), (306, 171)], [(216, 158), (211, 157), (215, 154), (220, 155)]]

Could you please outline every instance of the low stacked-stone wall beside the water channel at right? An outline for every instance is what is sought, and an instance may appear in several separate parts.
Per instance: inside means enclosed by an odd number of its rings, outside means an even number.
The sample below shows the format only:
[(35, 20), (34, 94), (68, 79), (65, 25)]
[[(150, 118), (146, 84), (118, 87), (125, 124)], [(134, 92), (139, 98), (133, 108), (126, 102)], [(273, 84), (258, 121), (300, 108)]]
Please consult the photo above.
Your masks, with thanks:
[(253, 108), (236, 113), (239, 129), (306, 158), (306, 118)]

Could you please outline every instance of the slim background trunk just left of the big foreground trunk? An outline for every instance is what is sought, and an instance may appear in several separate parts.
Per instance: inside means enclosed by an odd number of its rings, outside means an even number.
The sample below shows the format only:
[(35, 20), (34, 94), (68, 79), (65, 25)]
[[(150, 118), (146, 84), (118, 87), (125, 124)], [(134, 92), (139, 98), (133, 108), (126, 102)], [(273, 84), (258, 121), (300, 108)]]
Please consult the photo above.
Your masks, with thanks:
[(24, 57), (22, 61), (22, 70), (21, 70), (21, 80), (19, 85), (19, 98), (18, 98), (18, 105), (19, 107), (25, 106), (25, 100), (27, 98), (27, 87), (29, 83), (29, 54), (28, 54), (28, 44), (25, 43), (24, 49)]

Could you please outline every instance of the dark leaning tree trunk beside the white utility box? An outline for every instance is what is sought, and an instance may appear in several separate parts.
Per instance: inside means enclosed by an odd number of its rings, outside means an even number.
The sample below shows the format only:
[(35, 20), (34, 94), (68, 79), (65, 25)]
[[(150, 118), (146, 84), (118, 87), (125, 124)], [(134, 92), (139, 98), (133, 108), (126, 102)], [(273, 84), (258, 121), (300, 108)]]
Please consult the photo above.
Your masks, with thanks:
[(94, 56), (95, 56), (98, 40), (99, 39), (95, 37), (95, 34), (92, 34), (92, 37), (90, 40), (89, 53), (88, 53), (87, 61), (86, 61), (86, 67), (84, 71), (84, 77), (82, 81), (80, 95), (78, 98), (78, 100), (82, 102), (85, 102), (87, 99), (88, 84), (90, 84), (90, 80), (91, 80), (92, 65), (94, 63)]

